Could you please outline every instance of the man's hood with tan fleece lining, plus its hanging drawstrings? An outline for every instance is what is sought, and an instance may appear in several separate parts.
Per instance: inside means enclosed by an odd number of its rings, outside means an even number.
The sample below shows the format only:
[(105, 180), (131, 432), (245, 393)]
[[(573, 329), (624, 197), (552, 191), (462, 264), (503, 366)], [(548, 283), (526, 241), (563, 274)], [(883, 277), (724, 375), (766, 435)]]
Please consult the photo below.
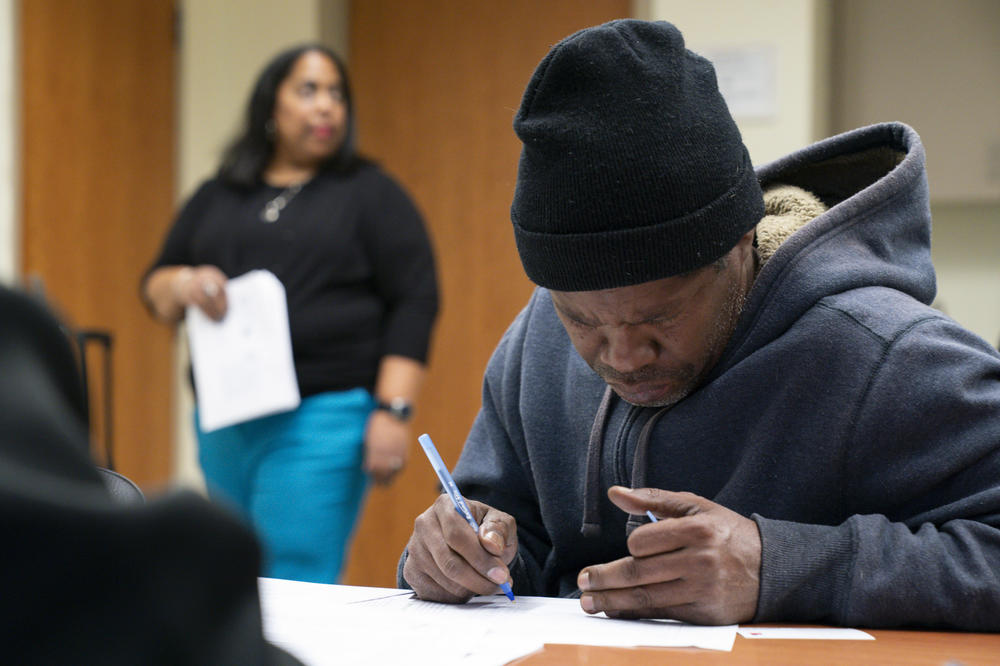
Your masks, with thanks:
[[(765, 217), (757, 225), (761, 268), (713, 381), (789, 330), (820, 300), (888, 287), (930, 304), (931, 216), (924, 150), (899, 123), (861, 128), (813, 144), (757, 170)], [(598, 484), (611, 389), (605, 389), (588, 443), (581, 533), (600, 532)], [(646, 483), (656, 410), (636, 439), (631, 486)], [(630, 516), (631, 531), (645, 519)]]

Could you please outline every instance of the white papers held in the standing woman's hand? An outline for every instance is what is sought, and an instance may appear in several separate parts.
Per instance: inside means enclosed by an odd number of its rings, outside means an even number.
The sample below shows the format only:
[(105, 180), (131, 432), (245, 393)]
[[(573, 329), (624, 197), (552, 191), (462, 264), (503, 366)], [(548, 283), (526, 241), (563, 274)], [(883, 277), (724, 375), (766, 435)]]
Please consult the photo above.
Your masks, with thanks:
[(285, 288), (250, 271), (226, 283), (228, 308), (213, 321), (188, 306), (186, 323), (205, 432), (299, 406)]

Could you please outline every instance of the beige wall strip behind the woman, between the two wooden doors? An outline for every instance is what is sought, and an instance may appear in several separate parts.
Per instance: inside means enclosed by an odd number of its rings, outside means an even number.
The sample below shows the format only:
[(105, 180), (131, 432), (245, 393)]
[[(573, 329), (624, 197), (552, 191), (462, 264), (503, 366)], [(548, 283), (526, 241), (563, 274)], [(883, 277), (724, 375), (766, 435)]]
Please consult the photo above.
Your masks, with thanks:
[[(178, 204), (218, 166), (254, 78), (278, 51), (325, 41), (347, 52), (347, 0), (181, 0)], [(342, 40), (338, 42), (337, 40)], [(174, 404), (178, 484), (201, 486), (191, 424), (187, 350), (178, 336)]]

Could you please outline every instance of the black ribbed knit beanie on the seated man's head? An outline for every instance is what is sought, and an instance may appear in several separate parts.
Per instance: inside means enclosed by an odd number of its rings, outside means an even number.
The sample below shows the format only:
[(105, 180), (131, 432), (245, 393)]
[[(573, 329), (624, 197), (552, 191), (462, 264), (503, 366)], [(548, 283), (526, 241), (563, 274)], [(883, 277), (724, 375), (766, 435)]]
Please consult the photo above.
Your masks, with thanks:
[(673, 25), (620, 20), (556, 44), (514, 131), (511, 220), (538, 285), (590, 291), (705, 266), (764, 215), (712, 64)]

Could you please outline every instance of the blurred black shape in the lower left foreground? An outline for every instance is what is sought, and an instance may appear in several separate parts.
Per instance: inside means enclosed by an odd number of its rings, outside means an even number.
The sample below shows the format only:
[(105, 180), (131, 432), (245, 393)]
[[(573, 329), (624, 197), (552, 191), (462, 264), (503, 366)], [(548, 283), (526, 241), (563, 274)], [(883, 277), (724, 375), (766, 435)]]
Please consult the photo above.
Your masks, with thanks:
[(264, 639), (253, 534), (195, 493), (143, 501), (99, 469), (69, 340), (3, 287), (0, 531), (5, 663), (299, 663)]

